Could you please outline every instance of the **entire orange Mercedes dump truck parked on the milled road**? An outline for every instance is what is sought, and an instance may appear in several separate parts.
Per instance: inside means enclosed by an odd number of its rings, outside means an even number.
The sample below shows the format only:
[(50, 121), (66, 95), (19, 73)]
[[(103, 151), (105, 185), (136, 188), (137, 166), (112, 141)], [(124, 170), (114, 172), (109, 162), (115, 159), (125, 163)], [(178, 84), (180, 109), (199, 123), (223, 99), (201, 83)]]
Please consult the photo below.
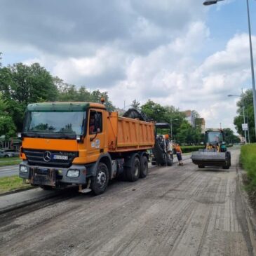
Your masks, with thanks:
[(109, 113), (100, 103), (35, 103), (20, 137), (20, 177), (43, 189), (76, 184), (101, 194), (114, 177), (147, 176), (154, 123)]

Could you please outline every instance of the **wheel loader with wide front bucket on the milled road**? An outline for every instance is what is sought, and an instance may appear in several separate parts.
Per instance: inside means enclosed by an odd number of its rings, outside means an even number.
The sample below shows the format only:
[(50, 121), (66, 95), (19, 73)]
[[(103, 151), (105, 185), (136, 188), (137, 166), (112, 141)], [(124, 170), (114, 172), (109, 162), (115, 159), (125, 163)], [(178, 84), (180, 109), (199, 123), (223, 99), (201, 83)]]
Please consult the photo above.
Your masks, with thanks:
[(231, 154), (227, 151), (223, 130), (206, 131), (206, 148), (192, 152), (191, 160), (198, 168), (222, 166), (223, 169), (229, 169)]

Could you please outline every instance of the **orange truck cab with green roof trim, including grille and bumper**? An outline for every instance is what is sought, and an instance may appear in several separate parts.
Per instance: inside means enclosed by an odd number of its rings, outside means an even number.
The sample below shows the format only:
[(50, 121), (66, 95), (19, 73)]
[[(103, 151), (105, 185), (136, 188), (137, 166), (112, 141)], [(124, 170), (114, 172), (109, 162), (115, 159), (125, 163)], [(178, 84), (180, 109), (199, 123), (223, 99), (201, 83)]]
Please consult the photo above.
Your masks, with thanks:
[[(92, 117), (95, 131), (90, 132)], [(20, 177), (41, 187), (85, 184), (92, 171), (90, 163), (107, 154), (106, 120), (105, 105), (97, 103), (28, 105), (21, 134)]]

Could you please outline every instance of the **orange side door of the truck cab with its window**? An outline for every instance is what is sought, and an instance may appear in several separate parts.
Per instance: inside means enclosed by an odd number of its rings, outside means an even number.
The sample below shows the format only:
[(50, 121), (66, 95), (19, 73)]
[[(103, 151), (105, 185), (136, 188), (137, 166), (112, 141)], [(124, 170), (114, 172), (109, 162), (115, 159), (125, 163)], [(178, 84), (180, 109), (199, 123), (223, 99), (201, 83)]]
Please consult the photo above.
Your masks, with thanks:
[(87, 124), (87, 163), (97, 161), (105, 147), (105, 127), (103, 122), (103, 110), (90, 109)]

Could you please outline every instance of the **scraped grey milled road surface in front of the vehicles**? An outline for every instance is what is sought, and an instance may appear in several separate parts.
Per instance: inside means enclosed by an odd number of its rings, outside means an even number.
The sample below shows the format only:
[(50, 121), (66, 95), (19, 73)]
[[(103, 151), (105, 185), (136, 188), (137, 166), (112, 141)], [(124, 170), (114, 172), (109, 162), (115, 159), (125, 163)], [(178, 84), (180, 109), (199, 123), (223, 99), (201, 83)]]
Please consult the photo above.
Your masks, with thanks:
[[(0, 217), (0, 255), (253, 255), (232, 166), (152, 168), (105, 194)], [(8, 213), (11, 215), (12, 213)]]

